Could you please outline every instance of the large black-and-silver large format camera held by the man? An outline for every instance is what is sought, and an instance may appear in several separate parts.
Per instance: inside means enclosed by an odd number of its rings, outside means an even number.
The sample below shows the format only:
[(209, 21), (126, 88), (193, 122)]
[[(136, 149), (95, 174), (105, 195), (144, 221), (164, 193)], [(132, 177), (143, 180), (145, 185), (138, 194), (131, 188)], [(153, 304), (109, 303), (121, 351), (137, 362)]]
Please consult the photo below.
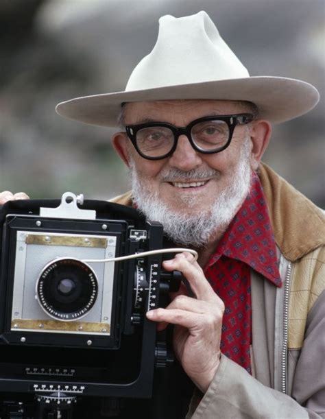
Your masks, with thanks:
[(165, 333), (145, 318), (180, 280), (146, 253), (163, 247), (162, 226), (81, 201), (64, 193), (2, 207), (1, 419), (82, 417), (71, 406), (87, 397), (150, 398), (168, 363)]

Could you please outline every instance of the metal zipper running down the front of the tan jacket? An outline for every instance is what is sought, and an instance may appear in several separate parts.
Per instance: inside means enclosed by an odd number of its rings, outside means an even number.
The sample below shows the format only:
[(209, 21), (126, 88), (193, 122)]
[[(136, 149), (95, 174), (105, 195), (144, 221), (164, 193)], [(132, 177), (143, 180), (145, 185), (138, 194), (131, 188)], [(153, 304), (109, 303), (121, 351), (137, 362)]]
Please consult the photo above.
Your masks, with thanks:
[(287, 351), (288, 351), (288, 323), (289, 323), (289, 289), (290, 289), (291, 263), (285, 274), (285, 295), (283, 301), (283, 343), (281, 352), (281, 392), (287, 393)]

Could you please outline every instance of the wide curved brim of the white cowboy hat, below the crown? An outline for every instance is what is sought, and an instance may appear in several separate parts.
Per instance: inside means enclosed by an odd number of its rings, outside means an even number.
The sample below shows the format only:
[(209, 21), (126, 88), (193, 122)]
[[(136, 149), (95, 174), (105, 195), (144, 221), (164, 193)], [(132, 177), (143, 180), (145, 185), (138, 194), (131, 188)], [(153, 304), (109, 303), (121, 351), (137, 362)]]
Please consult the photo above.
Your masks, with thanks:
[(56, 112), (92, 125), (117, 127), (124, 102), (167, 99), (251, 101), (258, 106), (261, 118), (280, 123), (304, 115), (317, 104), (320, 95), (314, 86), (301, 80), (256, 76), (77, 97), (58, 104)]

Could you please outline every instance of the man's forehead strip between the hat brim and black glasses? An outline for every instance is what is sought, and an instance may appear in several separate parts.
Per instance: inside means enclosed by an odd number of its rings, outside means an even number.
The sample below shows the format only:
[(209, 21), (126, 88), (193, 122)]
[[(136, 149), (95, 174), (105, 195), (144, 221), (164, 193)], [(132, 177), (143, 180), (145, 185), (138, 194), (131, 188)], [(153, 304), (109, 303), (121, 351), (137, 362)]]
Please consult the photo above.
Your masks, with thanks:
[(243, 111), (243, 102), (210, 99), (175, 99), (160, 101), (129, 102), (124, 105), (126, 123), (163, 121), (173, 117), (196, 117), (226, 115)]

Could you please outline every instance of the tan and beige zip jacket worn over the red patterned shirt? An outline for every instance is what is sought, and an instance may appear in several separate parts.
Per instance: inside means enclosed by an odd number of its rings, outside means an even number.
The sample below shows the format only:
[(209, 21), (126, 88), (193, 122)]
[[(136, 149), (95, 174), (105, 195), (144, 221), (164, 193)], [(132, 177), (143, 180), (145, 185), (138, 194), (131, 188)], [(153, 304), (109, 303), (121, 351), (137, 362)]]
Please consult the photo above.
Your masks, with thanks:
[[(222, 356), (186, 418), (325, 418), (324, 213), (266, 165), (259, 176), (283, 285), (252, 271), (253, 374)], [(114, 201), (130, 205), (130, 193)]]

